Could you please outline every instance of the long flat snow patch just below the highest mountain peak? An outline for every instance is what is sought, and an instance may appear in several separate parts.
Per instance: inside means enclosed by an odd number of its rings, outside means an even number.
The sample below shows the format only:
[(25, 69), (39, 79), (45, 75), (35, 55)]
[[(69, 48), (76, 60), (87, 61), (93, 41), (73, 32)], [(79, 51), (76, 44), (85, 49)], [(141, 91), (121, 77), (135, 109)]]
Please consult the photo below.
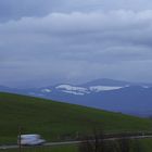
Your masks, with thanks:
[(107, 91), (107, 90), (117, 90), (123, 87), (110, 87), (110, 86), (92, 86), (89, 87), (90, 91), (100, 92), (100, 91)]

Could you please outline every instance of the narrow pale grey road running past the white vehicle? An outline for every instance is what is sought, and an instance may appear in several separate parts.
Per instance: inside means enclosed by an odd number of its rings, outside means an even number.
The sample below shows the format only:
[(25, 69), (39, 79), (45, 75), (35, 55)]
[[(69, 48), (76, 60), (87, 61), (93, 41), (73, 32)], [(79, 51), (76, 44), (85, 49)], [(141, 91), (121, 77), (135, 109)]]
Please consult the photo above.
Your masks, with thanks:
[[(124, 138), (124, 137), (123, 137)], [(123, 138), (107, 138), (104, 140), (118, 140)], [(144, 138), (152, 138), (152, 136), (132, 136), (132, 137), (126, 137), (126, 139), (144, 139)], [(78, 144), (81, 141), (64, 141), (64, 142), (47, 142), (41, 147), (53, 147), (53, 145), (65, 145), (65, 144)], [(0, 145), (0, 150), (4, 149), (17, 149), (18, 145)], [(28, 148), (28, 147), (26, 147)]]

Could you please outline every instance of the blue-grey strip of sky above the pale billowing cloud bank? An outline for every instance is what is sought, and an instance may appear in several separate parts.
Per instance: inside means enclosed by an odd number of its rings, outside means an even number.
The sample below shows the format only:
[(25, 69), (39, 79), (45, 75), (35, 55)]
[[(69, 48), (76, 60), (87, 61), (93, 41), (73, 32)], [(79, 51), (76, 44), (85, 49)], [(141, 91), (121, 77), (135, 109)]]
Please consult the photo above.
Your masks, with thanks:
[(0, 0), (0, 22), (40, 17), (52, 12), (151, 10), (151, 0)]

